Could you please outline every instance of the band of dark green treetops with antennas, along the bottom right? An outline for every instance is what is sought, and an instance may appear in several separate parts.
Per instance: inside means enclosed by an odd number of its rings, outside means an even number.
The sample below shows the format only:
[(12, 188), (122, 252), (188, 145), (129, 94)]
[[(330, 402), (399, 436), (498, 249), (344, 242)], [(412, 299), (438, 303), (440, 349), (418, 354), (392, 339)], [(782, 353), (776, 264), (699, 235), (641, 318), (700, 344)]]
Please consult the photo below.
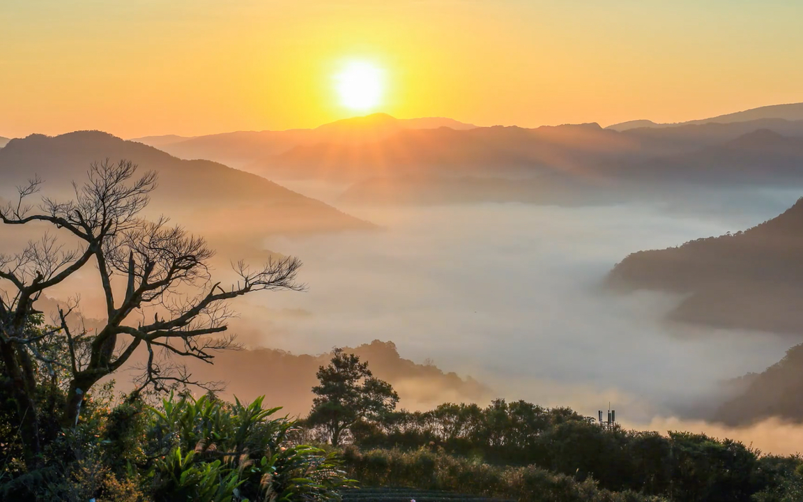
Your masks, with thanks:
[(760, 455), (731, 439), (688, 432), (605, 430), (568, 408), (528, 402), (445, 404), (401, 411), (352, 427), (363, 450), (442, 447), (499, 466), (534, 465), (593, 479), (612, 492), (642, 492), (683, 502), (803, 500), (798, 456)]

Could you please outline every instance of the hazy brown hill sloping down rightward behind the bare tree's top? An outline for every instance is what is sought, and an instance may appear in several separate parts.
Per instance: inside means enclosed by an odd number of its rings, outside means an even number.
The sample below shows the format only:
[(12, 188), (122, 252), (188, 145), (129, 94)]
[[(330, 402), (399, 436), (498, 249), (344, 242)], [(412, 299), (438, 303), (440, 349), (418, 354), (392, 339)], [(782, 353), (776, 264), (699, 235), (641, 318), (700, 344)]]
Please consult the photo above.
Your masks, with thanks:
[[(185, 161), (148, 145), (124, 141), (100, 131), (48, 137), (33, 134), (0, 149), (0, 186), (9, 187), (39, 174), (51, 190), (69, 190), (81, 182), (93, 161), (130, 160), (159, 173), (153, 209), (183, 214), (188, 221), (206, 218), (209, 227), (251, 228), (252, 232), (339, 231), (371, 225), (335, 208), (260, 178), (213, 161)], [(251, 221), (231, 211), (254, 211)], [(214, 225), (219, 223), (219, 225)]]

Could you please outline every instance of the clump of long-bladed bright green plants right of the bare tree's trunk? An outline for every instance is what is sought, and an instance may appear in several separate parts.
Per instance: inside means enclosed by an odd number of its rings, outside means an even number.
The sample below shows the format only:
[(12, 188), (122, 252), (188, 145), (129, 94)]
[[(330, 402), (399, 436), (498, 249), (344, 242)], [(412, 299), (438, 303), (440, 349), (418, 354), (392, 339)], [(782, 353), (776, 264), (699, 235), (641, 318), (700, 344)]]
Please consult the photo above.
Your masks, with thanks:
[(170, 394), (149, 409), (149, 478), (155, 500), (339, 500), (351, 486), (332, 454), (292, 444), (294, 422), (263, 398), (244, 405)]

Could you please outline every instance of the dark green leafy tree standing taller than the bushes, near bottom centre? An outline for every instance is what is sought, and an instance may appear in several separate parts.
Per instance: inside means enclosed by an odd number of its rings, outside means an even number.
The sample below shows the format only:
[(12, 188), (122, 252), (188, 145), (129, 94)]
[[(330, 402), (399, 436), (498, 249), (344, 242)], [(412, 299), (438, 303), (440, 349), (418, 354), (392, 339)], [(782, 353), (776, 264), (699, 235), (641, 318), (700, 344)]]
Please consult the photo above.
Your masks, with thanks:
[(320, 384), (312, 387), (316, 398), (307, 423), (320, 426), (332, 445), (357, 421), (377, 421), (396, 409), (399, 397), (393, 387), (374, 378), (367, 361), (343, 349), (335, 349), (332, 361), (320, 366), (316, 376)]

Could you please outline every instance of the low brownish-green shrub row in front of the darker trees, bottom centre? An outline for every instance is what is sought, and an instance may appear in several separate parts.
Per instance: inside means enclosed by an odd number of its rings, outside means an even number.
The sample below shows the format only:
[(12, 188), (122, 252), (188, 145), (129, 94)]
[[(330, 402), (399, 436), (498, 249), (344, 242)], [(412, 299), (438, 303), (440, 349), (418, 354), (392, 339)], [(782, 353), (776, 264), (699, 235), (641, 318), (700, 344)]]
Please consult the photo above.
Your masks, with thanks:
[(499, 467), (474, 462), (441, 451), (372, 450), (346, 447), (344, 467), (366, 486), (410, 486), (463, 492), (519, 502), (658, 502), (656, 496), (634, 492), (609, 492), (590, 478), (578, 481), (569, 475), (539, 467)]

